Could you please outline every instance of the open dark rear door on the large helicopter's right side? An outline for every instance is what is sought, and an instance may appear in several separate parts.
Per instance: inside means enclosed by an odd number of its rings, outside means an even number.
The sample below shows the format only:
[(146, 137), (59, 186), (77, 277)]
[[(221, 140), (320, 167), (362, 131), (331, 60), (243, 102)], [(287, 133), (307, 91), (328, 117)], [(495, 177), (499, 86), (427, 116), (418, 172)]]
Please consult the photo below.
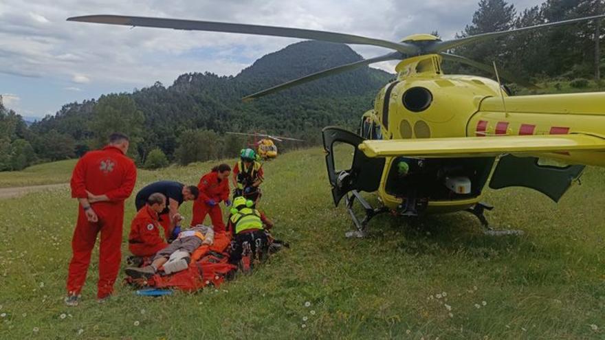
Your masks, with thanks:
[(538, 190), (558, 202), (571, 183), (580, 177), (584, 166), (544, 166), (536, 157), (500, 157), (489, 181), (489, 188), (525, 187)]

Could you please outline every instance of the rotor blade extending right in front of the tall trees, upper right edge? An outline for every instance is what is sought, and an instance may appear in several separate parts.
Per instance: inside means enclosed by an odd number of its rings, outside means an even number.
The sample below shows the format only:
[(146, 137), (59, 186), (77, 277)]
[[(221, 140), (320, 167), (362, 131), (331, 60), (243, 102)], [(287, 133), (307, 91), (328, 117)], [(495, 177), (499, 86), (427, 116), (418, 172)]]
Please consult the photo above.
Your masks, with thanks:
[(435, 41), (434, 43), (432, 43), (431, 45), (426, 47), (423, 50), (423, 53), (426, 53), (426, 54), (439, 53), (439, 52), (447, 51), (448, 49), (452, 49), (454, 47), (459, 47), (459, 46), (467, 45), (470, 43), (477, 43), (479, 41), (485, 41), (487, 39), (498, 38), (499, 36), (507, 36), (509, 34), (514, 34), (514, 33), (518, 33), (518, 32), (537, 30), (540, 28), (556, 27), (556, 26), (561, 26), (561, 25), (569, 25), (571, 23), (581, 23), (582, 21), (590, 21), (590, 20), (603, 19), (603, 18), (605, 18), (605, 14), (595, 15), (595, 16), (586, 16), (584, 18), (578, 18), (578, 19), (555, 21), (554, 23), (544, 23), (541, 25), (521, 27), (521, 28), (517, 28), (516, 30), (476, 34), (474, 36), (465, 36), (464, 38), (453, 39), (453, 40), (448, 40), (448, 41)]

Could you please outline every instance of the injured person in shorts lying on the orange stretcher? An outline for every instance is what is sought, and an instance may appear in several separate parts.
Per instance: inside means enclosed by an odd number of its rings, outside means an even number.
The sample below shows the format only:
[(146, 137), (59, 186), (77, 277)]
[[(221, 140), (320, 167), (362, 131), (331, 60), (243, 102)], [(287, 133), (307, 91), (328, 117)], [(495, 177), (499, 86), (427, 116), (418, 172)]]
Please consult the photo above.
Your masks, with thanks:
[(135, 279), (140, 277), (152, 277), (160, 269), (164, 273), (176, 273), (189, 267), (191, 254), (202, 245), (212, 245), (214, 242), (214, 230), (206, 225), (196, 225), (191, 229), (181, 231), (176, 240), (168, 247), (160, 250), (153, 258), (153, 262), (146, 267), (128, 267), (126, 275)]

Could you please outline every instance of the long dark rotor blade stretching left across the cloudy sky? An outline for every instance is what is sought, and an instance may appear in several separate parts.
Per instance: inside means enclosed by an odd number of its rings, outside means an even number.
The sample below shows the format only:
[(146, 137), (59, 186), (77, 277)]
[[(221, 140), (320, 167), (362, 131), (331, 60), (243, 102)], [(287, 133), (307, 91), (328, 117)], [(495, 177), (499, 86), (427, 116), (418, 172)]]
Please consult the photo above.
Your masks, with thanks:
[(311, 39), (329, 41), (331, 43), (344, 43), (356, 45), (371, 45), (395, 49), (405, 54), (416, 54), (419, 48), (409, 43), (396, 43), (366, 36), (344, 34), (337, 32), (306, 30), (301, 28), (249, 25), (241, 23), (219, 23), (216, 21), (197, 21), (168, 18), (153, 18), (147, 16), (123, 15), (85, 15), (72, 16), (67, 21), (80, 21), (83, 23), (106, 23), (110, 25), (141, 26), (171, 28), (173, 30), (195, 30), (225, 33), (256, 34), (262, 36), (283, 36), (287, 38)]

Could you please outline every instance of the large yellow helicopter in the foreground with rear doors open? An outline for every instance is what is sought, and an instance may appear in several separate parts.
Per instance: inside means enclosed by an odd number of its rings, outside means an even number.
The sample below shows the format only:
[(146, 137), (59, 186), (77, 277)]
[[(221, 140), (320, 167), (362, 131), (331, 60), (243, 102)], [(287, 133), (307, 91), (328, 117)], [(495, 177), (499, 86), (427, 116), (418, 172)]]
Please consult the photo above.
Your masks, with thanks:
[[(397, 80), (380, 90), (373, 110), (362, 117), (359, 134), (337, 127), (322, 131), (333, 201), (338, 205), (344, 198), (351, 213), (356, 229), (347, 236), (363, 237), (369, 220), (382, 212), (419, 216), (463, 210), (477, 216), (487, 233), (510, 234), (514, 231), (494, 231), (489, 227), (484, 211), (492, 207), (480, 202), (485, 185), (494, 189), (532, 188), (556, 202), (580, 177), (585, 165), (605, 166), (604, 92), (511, 96), (500, 85), (498, 70), (498, 81), (494, 81), (479, 76), (445, 75), (441, 69), (443, 60), (451, 60), (492, 71), (495, 65), (492, 69), (447, 52), (508, 34), (604, 17), (590, 16), (450, 41), (415, 34), (401, 42), (290, 27), (139, 16), (93, 15), (67, 20), (285, 36), (395, 51), (319, 71), (243, 98), (252, 100), (372, 63), (400, 60), (395, 68)], [(507, 73), (500, 74), (515, 80)], [(353, 146), (355, 151), (351, 168), (337, 171), (334, 145), (341, 143)], [(566, 166), (551, 166), (543, 159), (554, 159)], [(377, 192), (382, 206), (372, 207), (361, 191)], [(355, 201), (362, 205), (364, 218), (355, 215)]]

